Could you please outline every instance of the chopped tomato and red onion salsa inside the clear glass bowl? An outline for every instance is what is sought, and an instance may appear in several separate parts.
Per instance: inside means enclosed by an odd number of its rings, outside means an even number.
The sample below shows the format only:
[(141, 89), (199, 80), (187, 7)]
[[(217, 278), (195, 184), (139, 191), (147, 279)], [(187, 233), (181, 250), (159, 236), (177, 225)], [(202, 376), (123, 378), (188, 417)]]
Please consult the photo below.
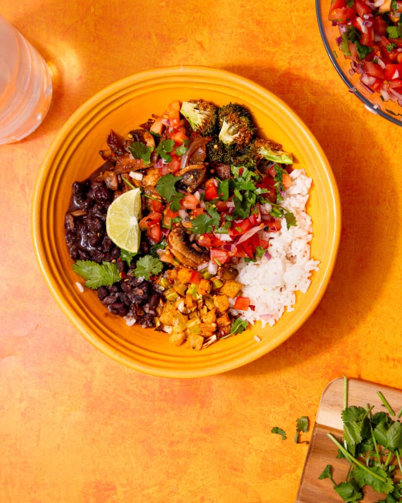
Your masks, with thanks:
[(382, 101), (402, 105), (402, 1), (333, 0), (329, 20), (339, 27), (337, 43), (351, 60), (351, 74), (379, 93)]

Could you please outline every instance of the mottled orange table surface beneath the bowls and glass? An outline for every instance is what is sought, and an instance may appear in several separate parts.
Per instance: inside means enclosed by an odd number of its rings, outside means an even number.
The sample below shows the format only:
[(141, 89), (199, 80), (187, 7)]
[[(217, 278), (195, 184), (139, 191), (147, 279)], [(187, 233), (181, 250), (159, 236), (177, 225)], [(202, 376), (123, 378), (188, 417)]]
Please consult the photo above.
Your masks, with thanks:
[[(308, 450), (295, 421), (314, 423), (326, 384), (402, 387), (402, 128), (347, 92), (311, 0), (3, 0), (1, 12), (51, 64), (54, 97), (36, 132), (0, 147), (0, 501), (294, 501)], [(192, 380), (95, 350), (47, 290), (30, 231), (40, 164), (67, 118), (115, 80), (170, 64), (223, 68), (285, 101), (328, 156), (343, 212), (335, 271), (304, 326), (254, 363)]]

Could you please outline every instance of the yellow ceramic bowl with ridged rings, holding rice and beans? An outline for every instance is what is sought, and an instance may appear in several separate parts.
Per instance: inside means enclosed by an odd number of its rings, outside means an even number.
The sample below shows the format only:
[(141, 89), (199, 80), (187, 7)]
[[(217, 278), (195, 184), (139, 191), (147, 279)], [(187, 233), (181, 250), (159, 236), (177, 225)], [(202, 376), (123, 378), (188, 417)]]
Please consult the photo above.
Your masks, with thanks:
[[(122, 135), (162, 113), (174, 100), (204, 98), (218, 105), (246, 105), (267, 137), (293, 152), (314, 186), (312, 256), (320, 261), (307, 294), (297, 295), (295, 310), (273, 327), (252, 329), (200, 352), (175, 347), (166, 334), (111, 315), (96, 292), (80, 293), (80, 281), (64, 241), (64, 215), (71, 185), (84, 180), (101, 163), (110, 129)], [(340, 203), (328, 161), (302, 121), (278, 98), (255, 83), (213, 68), (180, 66), (153, 69), (120, 80), (97, 93), (66, 122), (53, 142), (37, 181), (32, 229), (40, 268), (57, 303), (83, 336), (100, 351), (129, 367), (165, 377), (198, 377), (234, 369), (268, 353), (291, 336), (317, 307), (330, 279), (340, 236)], [(82, 281), (82, 279), (81, 279)], [(254, 335), (258, 334), (260, 342)]]

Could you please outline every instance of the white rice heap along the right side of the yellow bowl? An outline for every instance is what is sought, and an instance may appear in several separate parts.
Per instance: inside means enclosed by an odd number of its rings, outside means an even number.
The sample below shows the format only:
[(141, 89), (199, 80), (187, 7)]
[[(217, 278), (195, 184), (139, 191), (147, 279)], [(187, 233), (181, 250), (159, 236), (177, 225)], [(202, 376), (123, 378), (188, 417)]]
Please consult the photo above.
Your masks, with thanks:
[(262, 236), (269, 238), (271, 257), (264, 256), (248, 264), (242, 260), (237, 266), (237, 281), (243, 284), (242, 295), (250, 298), (255, 310), (231, 311), (250, 323), (261, 320), (262, 327), (267, 323), (274, 325), (285, 309), (292, 311), (295, 292), (306, 293), (312, 271), (318, 271), (319, 262), (310, 258), (313, 227), (311, 217), (306, 213), (312, 179), (304, 170), (293, 170), (290, 178), (292, 185), (286, 191), (281, 206), (294, 214), (297, 226), (287, 230), (283, 218), (280, 231), (264, 232)]

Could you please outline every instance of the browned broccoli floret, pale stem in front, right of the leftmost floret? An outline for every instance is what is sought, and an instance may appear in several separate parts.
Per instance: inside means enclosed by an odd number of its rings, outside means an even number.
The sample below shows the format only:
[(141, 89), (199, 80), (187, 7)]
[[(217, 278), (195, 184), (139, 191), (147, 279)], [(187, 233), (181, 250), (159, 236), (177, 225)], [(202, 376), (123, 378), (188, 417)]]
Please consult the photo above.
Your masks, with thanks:
[(243, 148), (250, 143), (255, 126), (250, 112), (237, 103), (229, 103), (218, 111), (219, 139), (226, 145)]

